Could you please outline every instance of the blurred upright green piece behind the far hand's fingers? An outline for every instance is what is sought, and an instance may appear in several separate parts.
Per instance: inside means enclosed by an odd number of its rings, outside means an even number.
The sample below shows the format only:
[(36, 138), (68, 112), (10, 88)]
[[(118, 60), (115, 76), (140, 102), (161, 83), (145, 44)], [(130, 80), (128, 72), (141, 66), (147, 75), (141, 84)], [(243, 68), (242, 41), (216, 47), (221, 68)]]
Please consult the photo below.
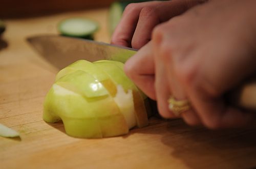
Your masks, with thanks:
[(141, 3), (150, 0), (117, 1), (111, 4), (109, 11), (109, 32), (112, 35), (119, 21), (121, 20), (125, 7), (131, 3)]

